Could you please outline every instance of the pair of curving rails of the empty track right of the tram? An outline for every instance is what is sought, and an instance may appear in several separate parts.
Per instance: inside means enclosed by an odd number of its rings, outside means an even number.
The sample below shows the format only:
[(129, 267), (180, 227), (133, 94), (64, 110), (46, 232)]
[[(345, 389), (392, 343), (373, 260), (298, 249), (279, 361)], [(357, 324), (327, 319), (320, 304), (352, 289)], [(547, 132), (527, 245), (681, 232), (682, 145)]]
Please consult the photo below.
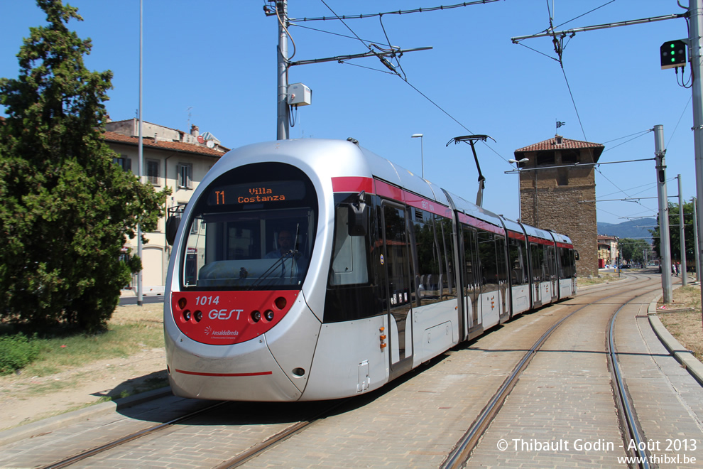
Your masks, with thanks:
[[(648, 283), (648, 281), (649, 279), (645, 278), (644, 282), (642, 283), (646, 284)], [(638, 284), (641, 283), (638, 281), (638, 279), (635, 279), (635, 282)], [(610, 288), (608, 287), (603, 287), (601, 289), (598, 289), (597, 291), (589, 291), (588, 293), (598, 293), (602, 292), (603, 290), (609, 289)], [(636, 301), (636, 299), (641, 298), (642, 296), (646, 296), (655, 291), (658, 291), (659, 289), (660, 286), (657, 286), (656, 288), (650, 289), (648, 291), (637, 293), (635, 296), (633, 296), (633, 298), (626, 301), (623, 306), (618, 308), (618, 310), (611, 316), (609, 323), (609, 340), (606, 345), (608, 347), (608, 350), (606, 350), (606, 352), (609, 357), (609, 369), (611, 370), (611, 377), (614, 386), (614, 399), (616, 400), (616, 406), (618, 406), (618, 418), (621, 421), (623, 443), (626, 443), (626, 446), (624, 446), (624, 448), (627, 448), (628, 441), (626, 440), (626, 438), (628, 437), (633, 438), (633, 441), (636, 442), (639, 448), (641, 446), (640, 443), (642, 441), (642, 437), (641, 433), (638, 431), (638, 422), (636, 420), (636, 414), (633, 410), (630, 399), (627, 398), (626, 385), (623, 381), (621, 373), (619, 372), (613, 335), (615, 319), (617, 313), (629, 303)], [(501, 384), (501, 387), (498, 388), (498, 391), (493, 394), (493, 396), (489, 399), (486, 406), (484, 406), (484, 408), (479, 413), (479, 416), (476, 417), (476, 419), (472, 422), (471, 426), (469, 426), (462, 438), (460, 438), (457, 444), (454, 446), (452, 451), (449, 452), (447, 458), (442, 461), (440, 468), (462, 468), (465, 467), (467, 463), (469, 463), (469, 458), (471, 457), (476, 446), (478, 446), (481, 437), (484, 435), (486, 430), (491, 425), (492, 421), (494, 421), (495, 417), (500, 412), (503, 403), (506, 401), (508, 395), (518, 383), (518, 379), (527, 369), (528, 365), (532, 361), (533, 357), (535, 357), (536, 353), (540, 351), (541, 347), (544, 345), (547, 339), (550, 338), (552, 333), (554, 333), (558, 328), (560, 328), (560, 326), (564, 324), (568, 319), (572, 318), (576, 313), (579, 313), (585, 308), (593, 306), (595, 303), (599, 303), (609, 298), (622, 295), (622, 292), (618, 292), (613, 295), (605, 296), (590, 303), (584, 304), (583, 306), (580, 306), (574, 311), (568, 313), (567, 316), (561, 318), (560, 320), (557, 320), (555, 324), (553, 324), (542, 336), (540, 336), (540, 338), (535, 341), (533, 346), (530, 347), (530, 350), (528, 350), (528, 352), (523, 355), (523, 358), (518, 362), (516, 367), (513, 368), (513, 371), (511, 372), (511, 374), (508, 375), (503, 384)], [(579, 295), (580, 298), (583, 298), (583, 296), (585, 296), (585, 294)], [(640, 456), (643, 460), (646, 460), (647, 455), (643, 451), (638, 449), (637, 453), (637, 455)], [(649, 468), (649, 465), (648, 463), (646, 463), (646, 461), (643, 464), (645, 465), (641, 465), (640, 467)]]

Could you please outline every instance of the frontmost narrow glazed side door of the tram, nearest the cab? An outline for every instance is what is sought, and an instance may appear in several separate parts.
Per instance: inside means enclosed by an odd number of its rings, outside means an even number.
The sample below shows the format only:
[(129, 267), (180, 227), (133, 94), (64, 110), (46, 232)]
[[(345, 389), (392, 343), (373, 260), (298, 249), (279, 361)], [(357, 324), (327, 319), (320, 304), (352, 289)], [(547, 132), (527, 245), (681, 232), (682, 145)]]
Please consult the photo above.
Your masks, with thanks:
[(381, 264), (386, 274), (388, 355), (391, 358), (391, 372), (398, 372), (413, 365), (413, 329), (410, 312), (414, 289), (410, 281), (407, 220), (405, 220), (405, 208), (402, 205), (384, 201), (381, 206), (383, 207)]

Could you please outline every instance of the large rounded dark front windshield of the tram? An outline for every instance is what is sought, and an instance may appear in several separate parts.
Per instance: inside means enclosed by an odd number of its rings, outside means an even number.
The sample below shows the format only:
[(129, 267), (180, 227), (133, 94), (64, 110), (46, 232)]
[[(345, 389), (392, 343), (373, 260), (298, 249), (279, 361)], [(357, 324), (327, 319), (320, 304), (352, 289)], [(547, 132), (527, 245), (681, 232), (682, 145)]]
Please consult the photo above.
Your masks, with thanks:
[(250, 166), (258, 168), (225, 173), (198, 200), (181, 262), (186, 289), (302, 286), (317, 225), (315, 189), (297, 168)]

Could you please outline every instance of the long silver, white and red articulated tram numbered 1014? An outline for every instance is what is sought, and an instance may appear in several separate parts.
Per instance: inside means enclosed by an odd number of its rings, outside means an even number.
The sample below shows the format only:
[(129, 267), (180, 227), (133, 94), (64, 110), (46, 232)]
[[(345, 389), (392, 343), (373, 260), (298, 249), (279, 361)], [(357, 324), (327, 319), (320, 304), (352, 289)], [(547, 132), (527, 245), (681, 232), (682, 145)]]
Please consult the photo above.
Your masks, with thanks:
[(565, 235), (349, 141), (245, 146), (207, 173), (173, 239), (171, 388), (247, 401), (367, 392), (574, 295), (576, 259)]

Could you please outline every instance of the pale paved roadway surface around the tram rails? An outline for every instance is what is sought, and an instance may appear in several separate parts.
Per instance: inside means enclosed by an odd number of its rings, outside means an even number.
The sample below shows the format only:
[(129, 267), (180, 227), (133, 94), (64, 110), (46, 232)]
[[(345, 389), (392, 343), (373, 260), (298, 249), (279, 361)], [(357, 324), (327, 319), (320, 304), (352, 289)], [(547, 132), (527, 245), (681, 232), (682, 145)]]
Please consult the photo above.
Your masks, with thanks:
[[(572, 300), (517, 318), (380, 392), (354, 399), (354, 405), (246, 466), (437, 468), (535, 337), (592, 301), (599, 289), (609, 289), (599, 298), (617, 296), (576, 313), (535, 355), (469, 466), (625, 467), (618, 460), (625, 451), (604, 353), (606, 323), (618, 306), (658, 282), (658, 276), (634, 276), (584, 289)], [(698, 467), (703, 461), (703, 391), (653, 333), (650, 321), (657, 326), (657, 320), (648, 318), (648, 312), (654, 313), (650, 301), (658, 296), (649, 293), (618, 313), (618, 360), (645, 439), (658, 458), (653, 463), (662, 468)], [(673, 345), (677, 349), (680, 345)], [(703, 379), (703, 372), (695, 373)], [(95, 406), (83, 415), (6, 431), (0, 433), (0, 466), (47, 464), (78, 448), (165, 421), (178, 406), (200, 402), (170, 397), (118, 412), (109, 411), (114, 404), (100, 404), (102, 414)], [(300, 405), (227, 404), (212, 416), (159, 437), (126, 443), (78, 467), (214, 467), (290, 424), (295, 419), (285, 412)], [(36, 436), (27, 438), (30, 435)]]

